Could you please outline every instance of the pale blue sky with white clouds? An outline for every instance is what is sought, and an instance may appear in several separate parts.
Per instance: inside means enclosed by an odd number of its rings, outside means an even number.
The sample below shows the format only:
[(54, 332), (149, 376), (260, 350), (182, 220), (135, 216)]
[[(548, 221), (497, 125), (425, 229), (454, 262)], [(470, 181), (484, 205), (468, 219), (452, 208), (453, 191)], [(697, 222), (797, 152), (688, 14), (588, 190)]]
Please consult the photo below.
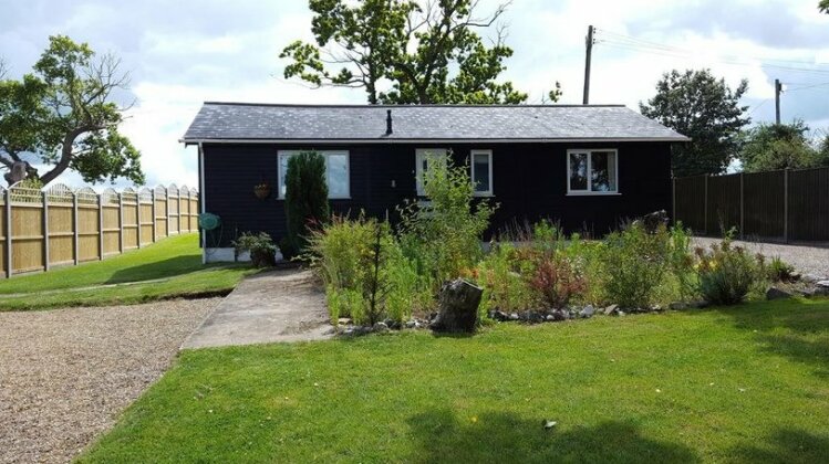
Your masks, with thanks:
[[(735, 87), (752, 120), (775, 118), (774, 81), (785, 85), (784, 122), (829, 129), (829, 15), (818, 0), (514, 0), (499, 23), (515, 54), (504, 80), (540, 103), (556, 81), (560, 103), (580, 104), (584, 36), (597, 28), (590, 103), (639, 103), (663, 73), (711, 68)], [(487, 13), (497, 1), (481, 0)], [(9, 77), (30, 72), (49, 35), (66, 34), (122, 59), (133, 103), (122, 131), (142, 151), (148, 184), (196, 186), (197, 152), (178, 140), (205, 101), (365, 103), (362, 89), (286, 81), (279, 52), (310, 41), (304, 0), (0, 0), (0, 56)], [(494, 30), (479, 31), (491, 38)], [(276, 162), (276, 161), (274, 161)], [(59, 181), (80, 186), (77, 175)], [(117, 182), (126, 186), (126, 181)]]

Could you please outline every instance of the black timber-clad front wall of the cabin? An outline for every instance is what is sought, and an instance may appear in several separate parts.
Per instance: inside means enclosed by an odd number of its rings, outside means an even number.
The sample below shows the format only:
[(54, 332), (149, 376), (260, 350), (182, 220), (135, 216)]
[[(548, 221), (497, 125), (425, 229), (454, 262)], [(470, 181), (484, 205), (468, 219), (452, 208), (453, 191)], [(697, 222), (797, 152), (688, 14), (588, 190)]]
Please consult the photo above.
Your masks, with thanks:
[[(284, 204), (277, 198), (277, 152), (280, 149), (338, 149), (350, 155), (351, 199), (331, 200), (341, 214), (395, 217), (395, 207), (416, 198), (415, 149), (449, 148), (457, 162), (470, 149), (493, 150), (494, 198), (498, 203), (491, 231), (516, 221), (550, 219), (569, 232), (587, 231), (599, 236), (616, 229), (620, 221), (664, 209), (671, 212), (670, 144), (649, 143), (481, 143), (481, 144), (363, 144), (282, 145), (205, 144), (205, 204), (221, 217), (220, 233), (207, 245), (230, 246), (245, 231), (265, 231), (280, 240), (286, 231)], [(615, 148), (619, 152), (616, 196), (568, 196), (567, 150)], [(259, 200), (253, 186), (267, 181), (271, 198)], [(392, 187), (394, 181), (395, 187)]]

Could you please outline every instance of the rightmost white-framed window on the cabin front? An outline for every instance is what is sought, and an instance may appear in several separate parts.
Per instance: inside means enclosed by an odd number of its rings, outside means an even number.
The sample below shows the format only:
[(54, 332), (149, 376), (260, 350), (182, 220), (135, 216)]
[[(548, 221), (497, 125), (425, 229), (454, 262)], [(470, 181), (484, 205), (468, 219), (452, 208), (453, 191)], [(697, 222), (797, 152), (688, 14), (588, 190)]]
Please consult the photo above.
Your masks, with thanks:
[(569, 194), (619, 193), (616, 150), (568, 150), (567, 192)]

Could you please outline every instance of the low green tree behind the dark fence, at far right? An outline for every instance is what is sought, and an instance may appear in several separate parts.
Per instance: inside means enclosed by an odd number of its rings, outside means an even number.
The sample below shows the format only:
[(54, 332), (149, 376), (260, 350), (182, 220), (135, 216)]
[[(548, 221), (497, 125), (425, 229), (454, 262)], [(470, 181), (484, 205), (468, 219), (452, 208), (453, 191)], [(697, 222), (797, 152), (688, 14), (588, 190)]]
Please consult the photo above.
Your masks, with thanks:
[(802, 120), (792, 124), (761, 124), (746, 131), (739, 154), (748, 172), (829, 166), (829, 158), (812, 147), (809, 127)]

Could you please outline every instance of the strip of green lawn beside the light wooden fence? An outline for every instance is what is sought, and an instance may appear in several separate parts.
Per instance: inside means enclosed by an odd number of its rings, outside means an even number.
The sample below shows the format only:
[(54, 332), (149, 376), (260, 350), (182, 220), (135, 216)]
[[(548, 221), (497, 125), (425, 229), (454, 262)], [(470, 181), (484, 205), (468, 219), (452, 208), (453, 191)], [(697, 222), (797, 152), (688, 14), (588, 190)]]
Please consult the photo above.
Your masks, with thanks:
[[(198, 234), (175, 235), (104, 261), (0, 281), (0, 310), (221, 294), (251, 272), (241, 264), (203, 265)], [(102, 287), (111, 284), (121, 285)]]

